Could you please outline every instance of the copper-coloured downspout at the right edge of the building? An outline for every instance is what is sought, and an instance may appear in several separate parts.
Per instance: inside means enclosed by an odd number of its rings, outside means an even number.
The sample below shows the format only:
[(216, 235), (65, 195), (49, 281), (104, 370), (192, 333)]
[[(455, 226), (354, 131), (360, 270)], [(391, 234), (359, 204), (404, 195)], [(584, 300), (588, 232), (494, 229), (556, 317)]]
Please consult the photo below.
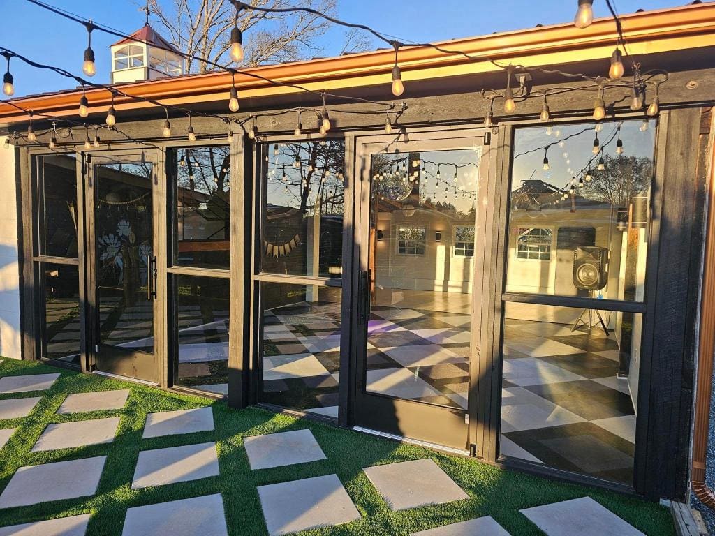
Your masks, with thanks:
[[(712, 113), (712, 111), (711, 111)], [(703, 287), (701, 292), (698, 376), (693, 434), (693, 471), (691, 489), (700, 502), (715, 510), (715, 492), (705, 482), (708, 454), (710, 400), (712, 396), (713, 354), (715, 352), (715, 114), (710, 131), (710, 166), (708, 170), (708, 223), (705, 238)]]

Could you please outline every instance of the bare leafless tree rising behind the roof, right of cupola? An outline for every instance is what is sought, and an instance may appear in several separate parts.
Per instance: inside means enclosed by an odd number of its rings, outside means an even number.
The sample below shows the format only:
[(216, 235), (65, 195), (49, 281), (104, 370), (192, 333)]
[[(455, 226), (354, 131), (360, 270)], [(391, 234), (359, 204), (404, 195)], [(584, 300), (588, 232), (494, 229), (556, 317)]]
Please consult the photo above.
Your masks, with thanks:
[[(250, 0), (251, 7), (310, 7), (335, 15), (337, 0)], [(330, 23), (305, 12), (295, 14), (265, 13), (243, 9), (237, 24), (246, 32), (245, 61), (242, 66), (283, 63), (310, 59), (320, 54), (317, 38), (325, 34)], [(187, 59), (189, 73), (214, 70), (209, 62), (230, 64), (230, 31), (235, 24), (236, 9), (228, 0), (149, 0), (149, 9), (179, 51), (207, 61)], [(344, 52), (366, 49), (364, 36), (348, 31)]]

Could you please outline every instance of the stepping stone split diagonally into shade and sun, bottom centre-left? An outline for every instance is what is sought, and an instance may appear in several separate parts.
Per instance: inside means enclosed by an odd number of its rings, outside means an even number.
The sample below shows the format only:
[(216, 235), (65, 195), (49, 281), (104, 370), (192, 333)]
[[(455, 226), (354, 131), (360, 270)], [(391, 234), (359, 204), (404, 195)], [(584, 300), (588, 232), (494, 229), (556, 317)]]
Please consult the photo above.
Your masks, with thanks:
[(337, 475), (260, 486), (258, 497), (270, 536), (360, 519)]

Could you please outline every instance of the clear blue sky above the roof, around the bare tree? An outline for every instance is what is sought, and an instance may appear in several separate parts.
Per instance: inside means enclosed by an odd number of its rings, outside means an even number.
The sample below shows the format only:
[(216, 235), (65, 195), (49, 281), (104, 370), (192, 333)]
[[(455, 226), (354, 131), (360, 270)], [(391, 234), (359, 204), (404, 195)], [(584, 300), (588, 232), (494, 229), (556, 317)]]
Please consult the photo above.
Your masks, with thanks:
[[(47, 0), (81, 16), (92, 18), (129, 34), (144, 24), (144, 13), (134, 0)], [(169, 0), (165, 0), (169, 1)], [(337, 0), (339, 16), (367, 24), (385, 34), (411, 41), (439, 41), (457, 37), (490, 34), (530, 28), (536, 24), (571, 21), (576, 0)], [(621, 14), (639, 8), (659, 9), (682, 5), (674, 0), (616, 0)], [(82, 74), (82, 54), (87, 33), (82, 26), (61, 19), (25, 0), (4, 0), (3, 31), (0, 46), (35, 61), (61, 66)], [(608, 14), (604, 0), (594, 1), (596, 16)], [(344, 29), (336, 28), (323, 36), (324, 56), (340, 52)], [(250, 39), (247, 33), (244, 39)], [(109, 82), (109, 45), (112, 36), (94, 31), (92, 48), (97, 54), (97, 76), (93, 81)], [(375, 47), (383, 46), (375, 42)], [(4, 66), (3, 66), (4, 69)], [(16, 96), (73, 87), (74, 81), (34, 69), (15, 60), (11, 64)]]

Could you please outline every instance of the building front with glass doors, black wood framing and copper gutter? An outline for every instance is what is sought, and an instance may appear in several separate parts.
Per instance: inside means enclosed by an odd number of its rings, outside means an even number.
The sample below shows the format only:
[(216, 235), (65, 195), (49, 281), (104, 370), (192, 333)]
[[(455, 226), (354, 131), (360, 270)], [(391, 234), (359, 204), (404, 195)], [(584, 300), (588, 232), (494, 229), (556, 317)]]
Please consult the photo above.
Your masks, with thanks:
[[(228, 73), (120, 86), (195, 110), (169, 137), (168, 111), (88, 89), (91, 117), (116, 110), (99, 147), (58, 124), (55, 149), (45, 133), (0, 154), (1, 352), (684, 500), (715, 5), (623, 29), (644, 71), (669, 73), (656, 114), (623, 88), (602, 121), (586, 90), (549, 98), (548, 121), (543, 99), (506, 114), (483, 98), (504, 86), (493, 61), (598, 76), (611, 20), (441, 44), (470, 59), (404, 49), (405, 106), (387, 113), (350, 97), (394, 100), (393, 51), (257, 67), (283, 85), (236, 74), (247, 134), (230, 142), (210, 116), (228, 114)], [(586, 85), (522, 80), (520, 95)], [(296, 85), (344, 96), (327, 134)], [(40, 131), (80, 95), (14, 102)], [(0, 104), (0, 122), (23, 133), (29, 116)]]

